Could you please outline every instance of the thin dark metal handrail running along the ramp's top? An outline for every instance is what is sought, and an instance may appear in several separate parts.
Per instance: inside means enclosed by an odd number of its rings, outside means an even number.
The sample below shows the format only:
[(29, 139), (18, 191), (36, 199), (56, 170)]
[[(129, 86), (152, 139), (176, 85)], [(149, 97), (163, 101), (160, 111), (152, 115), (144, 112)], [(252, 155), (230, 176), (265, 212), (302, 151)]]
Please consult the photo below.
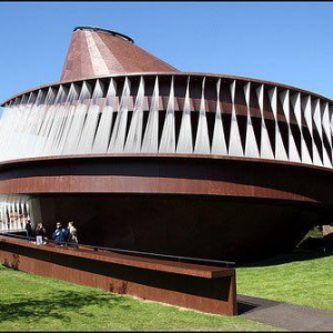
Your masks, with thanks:
[[(9, 232), (0, 232), (0, 235), (9, 235), (12, 238), (18, 238), (18, 239), (24, 239), (24, 240), (31, 240), (34, 239), (34, 236), (22, 236)], [(155, 258), (164, 258), (164, 259), (171, 259), (171, 260), (176, 260), (176, 261), (195, 261), (195, 262), (204, 262), (204, 263), (211, 263), (211, 264), (222, 264), (225, 265), (226, 268), (229, 266), (234, 266), (235, 262), (232, 261), (221, 261), (221, 260), (213, 260), (213, 259), (203, 259), (203, 258), (192, 258), (192, 256), (180, 256), (180, 255), (170, 255), (170, 254), (161, 254), (161, 253), (151, 253), (151, 252), (142, 252), (142, 251), (134, 251), (134, 250), (124, 250), (124, 249), (115, 249), (115, 248), (105, 248), (105, 246), (95, 246), (95, 245), (88, 245), (88, 244), (82, 244), (82, 243), (70, 243), (70, 242), (56, 242), (53, 240), (49, 240), (49, 243), (53, 244), (63, 244), (63, 245), (71, 245), (71, 246), (82, 246), (82, 248), (89, 248), (94, 251), (112, 251), (112, 252), (120, 252), (120, 253), (127, 253), (127, 254), (137, 254), (137, 255), (148, 255), (148, 256), (155, 256)]]

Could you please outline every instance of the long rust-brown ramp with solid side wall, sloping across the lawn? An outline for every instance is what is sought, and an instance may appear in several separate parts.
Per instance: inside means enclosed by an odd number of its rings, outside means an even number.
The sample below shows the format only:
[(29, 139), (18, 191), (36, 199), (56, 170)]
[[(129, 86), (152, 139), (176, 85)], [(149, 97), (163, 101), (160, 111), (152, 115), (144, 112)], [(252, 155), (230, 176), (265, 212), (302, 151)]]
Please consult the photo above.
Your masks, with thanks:
[(0, 234), (0, 263), (143, 300), (216, 314), (238, 313), (233, 268), (143, 258), (142, 252), (134, 255), (107, 248), (63, 244), (38, 245), (27, 239)]

